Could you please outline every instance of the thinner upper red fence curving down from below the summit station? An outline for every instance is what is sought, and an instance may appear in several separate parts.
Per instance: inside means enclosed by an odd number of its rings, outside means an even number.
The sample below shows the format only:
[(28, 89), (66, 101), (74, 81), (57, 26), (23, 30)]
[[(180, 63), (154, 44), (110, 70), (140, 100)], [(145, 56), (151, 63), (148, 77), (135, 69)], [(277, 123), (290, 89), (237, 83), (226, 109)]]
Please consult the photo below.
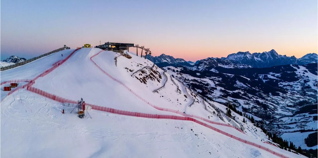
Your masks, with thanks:
[[(104, 50), (101, 50), (100, 52), (102, 52)], [(145, 99), (143, 99), (140, 95), (138, 95), (137, 93), (135, 93), (132, 89), (130, 89), (128, 86), (126, 86), (123, 82), (119, 81), (118, 79), (114, 78), (113, 76), (109, 75), (105, 70), (103, 70), (102, 68), (100, 68), (100, 66), (95, 63), (93, 61), (93, 57), (97, 56), (98, 54), (100, 54), (100, 52), (98, 52), (97, 54), (91, 56), (91, 61), (95, 64), (95, 66), (97, 66), (104, 74), (106, 74), (108, 77), (110, 77), (111, 79), (113, 79), (114, 81), (120, 83), (121, 85), (123, 85), (126, 89), (128, 89), (131, 93), (133, 93), (136, 97), (138, 97), (139, 99), (141, 99), (143, 102), (146, 102), (148, 105), (154, 107), (155, 109), (158, 109), (158, 110), (161, 110), (161, 111), (169, 111), (169, 112), (173, 112), (173, 113), (177, 113), (177, 114), (180, 114), (180, 115), (183, 115), (183, 116), (187, 116), (187, 117), (195, 117), (195, 118), (198, 118), (198, 119), (201, 119), (201, 120), (204, 120), (206, 122), (209, 122), (209, 123), (212, 123), (212, 124), (218, 124), (218, 125), (222, 125), (222, 126), (227, 126), (227, 127), (232, 127), (242, 133), (244, 133), (241, 129), (239, 128), (236, 128), (232, 125), (229, 125), (229, 124), (226, 124), (226, 123), (220, 123), (220, 122), (214, 122), (214, 121), (211, 121), (211, 120), (208, 120), (206, 118), (203, 118), (201, 116), (197, 116), (197, 115), (189, 115), (189, 114), (184, 114), (183, 112), (180, 112), (178, 110), (174, 110), (174, 109), (168, 109), (168, 108), (162, 108), (162, 107), (159, 107), (159, 106), (156, 106), (156, 105), (153, 105), (151, 104), (150, 102), (146, 101)], [(245, 134), (245, 133), (244, 133)]]

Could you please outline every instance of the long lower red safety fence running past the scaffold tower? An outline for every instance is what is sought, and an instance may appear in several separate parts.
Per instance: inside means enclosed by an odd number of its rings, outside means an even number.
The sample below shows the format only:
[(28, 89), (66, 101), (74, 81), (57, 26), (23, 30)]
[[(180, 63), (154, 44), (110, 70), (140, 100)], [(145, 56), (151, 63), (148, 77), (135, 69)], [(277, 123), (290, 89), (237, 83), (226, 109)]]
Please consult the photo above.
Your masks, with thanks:
[[(70, 99), (66, 99), (66, 98), (63, 98), (63, 97), (60, 97), (60, 96), (57, 96), (57, 95), (53, 95), (51, 93), (48, 93), (48, 92), (45, 92), (41, 89), (37, 89), (37, 88), (34, 88), (34, 87), (28, 87), (27, 90), (31, 91), (31, 92), (34, 92), (36, 94), (39, 94), (39, 95), (42, 95), (46, 98), (50, 98), (54, 101), (57, 101), (57, 102), (61, 102), (61, 103), (74, 103), (74, 104), (77, 104), (77, 101), (73, 101), (73, 100), (70, 100)], [(192, 122), (196, 122), (202, 126), (205, 126), (207, 128), (210, 128), (214, 131), (217, 131), (218, 133), (221, 133), (223, 135), (226, 135), (226, 136), (229, 136), (235, 140), (238, 140), (240, 142), (243, 142), (245, 144), (249, 144), (249, 145), (252, 145), (254, 147), (257, 147), (257, 148), (260, 148), (260, 149), (263, 149), (265, 151), (268, 151), (274, 155), (277, 155), (279, 157), (282, 157), (282, 158), (288, 158), (287, 156), (285, 155), (282, 155), (278, 152), (275, 152), (269, 148), (266, 148), (266, 147), (263, 147), (257, 143), (254, 143), (254, 142), (250, 142), (250, 141), (247, 141), (247, 140), (244, 140), (242, 138), (239, 138), (237, 136), (234, 136), (234, 135), (231, 135), (229, 133), (226, 133), (218, 128), (215, 128), (215, 127), (212, 127), (211, 125), (208, 125), (204, 122), (201, 122), (201, 121), (198, 121), (192, 117), (183, 117), (183, 116), (175, 116), (175, 115), (159, 115), (159, 114), (147, 114), (147, 113), (141, 113), (141, 112), (132, 112), (132, 111), (125, 111), (125, 110), (119, 110), (119, 109), (113, 109), (113, 108), (107, 108), (107, 107), (102, 107), (102, 106), (98, 106), (98, 105), (94, 105), (94, 104), (89, 104), (89, 103), (86, 103), (86, 105), (90, 105), (92, 106), (92, 109), (95, 109), (95, 110), (100, 110), (100, 111), (105, 111), (105, 112), (109, 112), (109, 113), (113, 113), (113, 114), (118, 114), (118, 115), (126, 115), (126, 116), (135, 116), (135, 117), (144, 117), (144, 118), (154, 118), (154, 119), (172, 119), (172, 120), (185, 120), (185, 121), (192, 121)]]

